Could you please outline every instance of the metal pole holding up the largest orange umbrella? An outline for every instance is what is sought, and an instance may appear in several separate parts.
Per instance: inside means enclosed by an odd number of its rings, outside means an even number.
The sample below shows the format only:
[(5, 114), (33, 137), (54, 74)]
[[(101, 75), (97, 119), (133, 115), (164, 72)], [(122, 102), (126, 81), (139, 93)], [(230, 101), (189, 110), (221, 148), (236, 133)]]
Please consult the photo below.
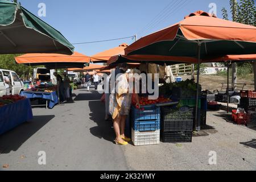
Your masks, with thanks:
[[(201, 43), (198, 43), (197, 46), (197, 89), (196, 89), (196, 115), (195, 115), (195, 122), (197, 123), (196, 131), (200, 131), (200, 117), (199, 117), (199, 76), (200, 76), (200, 55), (201, 55)], [(201, 90), (200, 90), (201, 92)]]

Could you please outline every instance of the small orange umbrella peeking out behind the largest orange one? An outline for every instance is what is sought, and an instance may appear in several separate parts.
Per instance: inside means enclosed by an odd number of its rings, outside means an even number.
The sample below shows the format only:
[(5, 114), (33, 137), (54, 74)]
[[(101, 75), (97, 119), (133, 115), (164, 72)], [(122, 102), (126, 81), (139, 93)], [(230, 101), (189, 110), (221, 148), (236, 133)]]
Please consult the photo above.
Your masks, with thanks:
[(107, 51), (103, 51), (103, 52), (97, 53), (96, 55), (93, 55), (91, 60), (93, 61), (93, 63), (106, 63), (112, 56), (123, 55), (125, 53), (124, 50), (127, 47), (128, 45), (126, 43), (123, 43), (118, 47), (114, 47)]

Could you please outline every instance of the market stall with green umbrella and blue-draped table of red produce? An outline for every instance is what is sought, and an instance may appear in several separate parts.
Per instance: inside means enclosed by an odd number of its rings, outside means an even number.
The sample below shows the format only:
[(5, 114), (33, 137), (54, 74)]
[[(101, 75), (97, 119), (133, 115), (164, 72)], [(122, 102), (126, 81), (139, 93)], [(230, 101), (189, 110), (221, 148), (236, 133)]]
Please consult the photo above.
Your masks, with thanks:
[[(0, 53), (63, 53), (74, 47), (63, 35), (19, 3), (0, 1)], [(56, 49), (57, 47), (57, 49)], [(30, 100), (25, 97), (0, 98), (0, 134), (32, 119)]]

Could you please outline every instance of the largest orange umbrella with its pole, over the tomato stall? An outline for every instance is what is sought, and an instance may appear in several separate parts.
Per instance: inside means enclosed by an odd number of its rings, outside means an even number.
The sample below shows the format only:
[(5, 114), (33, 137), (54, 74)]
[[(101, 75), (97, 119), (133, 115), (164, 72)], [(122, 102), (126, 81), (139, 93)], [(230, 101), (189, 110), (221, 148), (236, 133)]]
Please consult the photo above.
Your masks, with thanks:
[[(256, 27), (216, 18), (197, 11), (184, 20), (147, 35), (125, 49), (125, 56), (170, 56), (197, 59), (196, 121), (200, 130), (199, 75), (201, 60), (226, 55), (253, 55), (256, 53)], [(214, 61), (212, 61), (214, 62)]]

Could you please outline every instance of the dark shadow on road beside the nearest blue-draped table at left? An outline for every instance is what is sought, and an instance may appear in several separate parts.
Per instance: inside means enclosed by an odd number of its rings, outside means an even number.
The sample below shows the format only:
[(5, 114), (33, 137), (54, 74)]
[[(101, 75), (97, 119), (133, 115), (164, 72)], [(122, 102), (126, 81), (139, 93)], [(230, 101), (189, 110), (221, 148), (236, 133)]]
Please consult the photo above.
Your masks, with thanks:
[(15, 129), (0, 135), (0, 154), (17, 151), (24, 142), (54, 117), (55, 115), (36, 115), (30, 122), (22, 123)]

